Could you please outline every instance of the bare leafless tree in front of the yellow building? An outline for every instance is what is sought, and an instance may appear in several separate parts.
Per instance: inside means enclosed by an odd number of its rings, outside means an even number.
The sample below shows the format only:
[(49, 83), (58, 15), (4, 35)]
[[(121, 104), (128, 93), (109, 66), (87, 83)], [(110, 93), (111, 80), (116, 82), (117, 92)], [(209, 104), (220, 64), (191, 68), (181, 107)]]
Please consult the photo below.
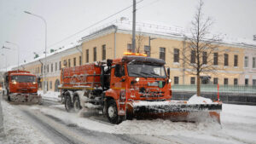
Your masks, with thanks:
[[(200, 0), (195, 16), (191, 21), (190, 36), (185, 36), (182, 50), (183, 58), (181, 58), (183, 66), (186, 67), (185, 70), (196, 76), (198, 96), (201, 95), (201, 73), (214, 72), (217, 69), (216, 64), (213, 63), (214, 57), (216, 60), (217, 56), (218, 60), (221, 56), (218, 49), (220, 39), (218, 36), (210, 35), (209, 30), (212, 26), (212, 20), (210, 17), (204, 19), (202, 14), (203, 5), (204, 3)], [(217, 55), (214, 53), (217, 53)]]

